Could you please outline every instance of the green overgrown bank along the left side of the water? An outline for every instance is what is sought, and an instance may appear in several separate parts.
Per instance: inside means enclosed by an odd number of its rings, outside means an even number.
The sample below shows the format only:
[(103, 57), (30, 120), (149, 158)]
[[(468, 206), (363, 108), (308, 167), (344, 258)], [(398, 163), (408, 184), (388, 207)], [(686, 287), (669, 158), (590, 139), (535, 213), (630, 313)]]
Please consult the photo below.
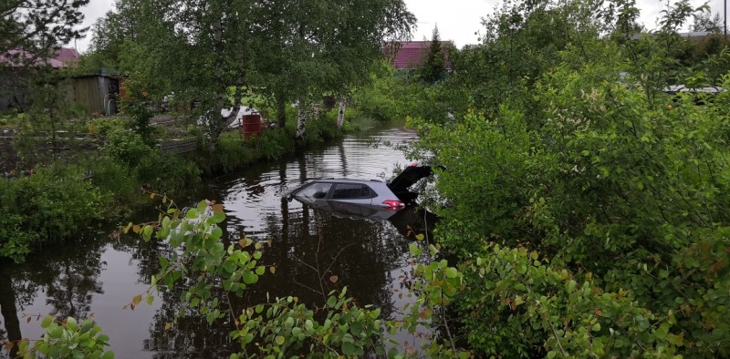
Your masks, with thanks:
[[(370, 120), (357, 111), (347, 115), (341, 130), (336, 110), (308, 120), (307, 134), (299, 142), (291, 120), (285, 128), (267, 128), (254, 138), (226, 131), (215, 146), (199, 128), (154, 126), (141, 135), (124, 118), (69, 121), (68, 130), (81, 133), (83, 140), (55, 138), (52, 146), (47, 137), (19, 136), (13, 143), (14, 169), (0, 180), (0, 257), (23, 262), (40, 243), (127, 216), (144, 200), (142, 189), (184, 197), (207, 177), (279, 159), (369, 126)], [(38, 133), (22, 119), (5, 122), (24, 126), (22, 133)], [(162, 155), (154, 146), (160, 139), (191, 136), (198, 139), (198, 149), (185, 155)]]

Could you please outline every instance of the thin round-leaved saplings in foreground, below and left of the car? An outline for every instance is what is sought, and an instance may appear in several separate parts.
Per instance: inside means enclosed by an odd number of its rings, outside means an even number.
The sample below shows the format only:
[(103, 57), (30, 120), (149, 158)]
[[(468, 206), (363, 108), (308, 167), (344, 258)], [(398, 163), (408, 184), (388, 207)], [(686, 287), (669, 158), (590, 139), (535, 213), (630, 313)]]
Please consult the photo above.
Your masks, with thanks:
[[(167, 198), (162, 201), (167, 203)], [(150, 290), (132, 298), (132, 309), (143, 298), (151, 303), (151, 294), (162, 291), (162, 284), (170, 290), (184, 281), (189, 286), (182, 294), (183, 303), (203, 314), (208, 323), (234, 318), (230, 296), (244, 295), (260, 276), (276, 270), (259, 264), (263, 255), (260, 242), (244, 238), (225, 247), (220, 241), (223, 231), (219, 226), (225, 219), (220, 204), (203, 200), (183, 214), (170, 202), (161, 218), (144, 226), (130, 223), (124, 230), (141, 233), (145, 241), (154, 236), (173, 249), (161, 257), (161, 272), (152, 276)], [(266, 357), (288, 357), (304, 348), (315, 357), (364, 354), (363, 348), (378, 343), (380, 311), (360, 309), (345, 294), (346, 290), (339, 295), (330, 293), (324, 321), (315, 319), (314, 312), (293, 297), (246, 309), (236, 317), (236, 329), (231, 333), (244, 352), (232, 357), (247, 357), (248, 344), (258, 342), (253, 352)], [(172, 324), (168, 323), (168, 328)]]

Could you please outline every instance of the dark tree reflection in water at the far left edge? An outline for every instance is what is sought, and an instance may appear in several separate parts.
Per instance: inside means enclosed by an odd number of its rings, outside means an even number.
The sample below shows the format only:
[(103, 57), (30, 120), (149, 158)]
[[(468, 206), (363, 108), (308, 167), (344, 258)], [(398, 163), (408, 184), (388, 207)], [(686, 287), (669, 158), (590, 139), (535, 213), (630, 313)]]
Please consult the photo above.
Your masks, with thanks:
[(53, 307), (50, 314), (88, 317), (93, 294), (102, 292), (103, 245), (104, 241), (95, 238), (79, 238), (44, 248), (23, 264), (0, 262), (0, 310), (5, 324), (0, 338), (16, 341), (22, 337), (19, 318), (38, 292), (46, 292), (46, 302)]

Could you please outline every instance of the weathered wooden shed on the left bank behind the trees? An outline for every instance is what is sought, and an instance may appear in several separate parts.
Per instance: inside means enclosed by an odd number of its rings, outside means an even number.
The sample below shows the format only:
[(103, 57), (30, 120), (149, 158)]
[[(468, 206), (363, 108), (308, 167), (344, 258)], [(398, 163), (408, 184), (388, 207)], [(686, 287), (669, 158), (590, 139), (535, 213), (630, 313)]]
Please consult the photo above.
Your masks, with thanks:
[(78, 102), (92, 114), (116, 115), (120, 84), (117, 78), (103, 75), (73, 77), (73, 102)]

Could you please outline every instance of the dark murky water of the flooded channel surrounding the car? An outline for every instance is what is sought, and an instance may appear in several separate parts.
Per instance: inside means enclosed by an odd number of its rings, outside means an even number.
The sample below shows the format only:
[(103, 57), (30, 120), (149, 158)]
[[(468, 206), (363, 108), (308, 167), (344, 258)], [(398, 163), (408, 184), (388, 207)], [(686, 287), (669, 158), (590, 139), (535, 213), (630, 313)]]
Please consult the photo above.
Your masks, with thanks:
[[(406, 235), (409, 228), (424, 228), (422, 214), (401, 210), (389, 221), (358, 220), (281, 197), (316, 178), (389, 178), (396, 166), (408, 164), (394, 147), (414, 137), (401, 128), (375, 130), (211, 181), (200, 199), (224, 204), (226, 241), (245, 235), (269, 242), (262, 262), (276, 266), (276, 274), (266, 273), (235, 305), (262, 303), (266, 293), (295, 295), (316, 305), (329, 291), (348, 286), (357, 303), (374, 304), (383, 316), (396, 316), (403, 304), (399, 278), (408, 270)], [(188, 312), (171, 331), (164, 330), (180, 310), (182, 288), (152, 305), (122, 309), (149, 287), (162, 251), (162, 246), (133, 236), (116, 241), (100, 232), (34, 255), (23, 265), (0, 264), (0, 338), (39, 339), (38, 317), (51, 313), (93, 317), (110, 336), (118, 358), (227, 357), (235, 344), (224, 322), (210, 327), (204, 317)], [(8, 355), (0, 352), (0, 357)]]

